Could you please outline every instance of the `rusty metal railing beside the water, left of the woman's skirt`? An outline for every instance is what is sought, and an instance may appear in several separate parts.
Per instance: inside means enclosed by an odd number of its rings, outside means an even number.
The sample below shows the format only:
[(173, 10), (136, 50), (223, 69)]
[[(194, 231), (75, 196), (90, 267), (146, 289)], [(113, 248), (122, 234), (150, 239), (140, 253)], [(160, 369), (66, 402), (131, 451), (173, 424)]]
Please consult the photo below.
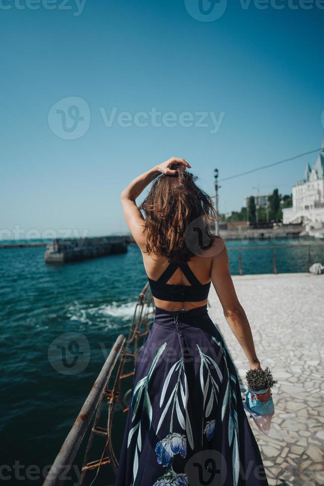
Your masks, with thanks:
[[(128, 411), (127, 399), (130, 398), (132, 378), (138, 358), (139, 348), (145, 343), (154, 320), (154, 301), (149, 283), (139, 295), (135, 307), (128, 338), (120, 334), (112, 347), (109, 356), (93, 385), (76, 421), (68, 433), (54, 463), (47, 475), (44, 486), (61, 486), (66, 480), (68, 471), (95, 415), (86, 452), (81, 468), (80, 486), (85, 485), (89, 471), (96, 471), (93, 484), (103, 466), (110, 465), (114, 473), (118, 461), (114, 451), (111, 427), (116, 406), (119, 403), (122, 411)], [(127, 369), (126, 369), (127, 368)], [(100, 419), (106, 414), (106, 426), (100, 426)], [(96, 437), (104, 439), (100, 458), (90, 460)]]

